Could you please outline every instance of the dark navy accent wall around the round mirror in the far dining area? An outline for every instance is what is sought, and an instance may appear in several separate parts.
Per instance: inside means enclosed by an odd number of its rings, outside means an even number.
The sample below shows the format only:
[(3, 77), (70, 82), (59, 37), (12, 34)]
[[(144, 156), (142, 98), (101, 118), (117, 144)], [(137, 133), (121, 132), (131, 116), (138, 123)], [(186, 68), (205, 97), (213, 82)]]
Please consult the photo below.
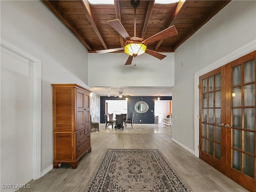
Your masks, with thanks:
[[(125, 100), (125, 98), (119, 97), (100, 97), (100, 123), (105, 123), (104, 113), (106, 107), (106, 100)], [(127, 118), (130, 119), (132, 114), (134, 114), (133, 123), (141, 124), (154, 124), (154, 101), (157, 100), (157, 97), (153, 96), (130, 96), (127, 101)], [(160, 97), (160, 100), (172, 100), (172, 97)], [(137, 113), (135, 111), (135, 104), (138, 101), (144, 101), (148, 104), (148, 111), (146, 113)], [(151, 112), (153, 110), (153, 112)], [(140, 122), (141, 120), (141, 122)]]

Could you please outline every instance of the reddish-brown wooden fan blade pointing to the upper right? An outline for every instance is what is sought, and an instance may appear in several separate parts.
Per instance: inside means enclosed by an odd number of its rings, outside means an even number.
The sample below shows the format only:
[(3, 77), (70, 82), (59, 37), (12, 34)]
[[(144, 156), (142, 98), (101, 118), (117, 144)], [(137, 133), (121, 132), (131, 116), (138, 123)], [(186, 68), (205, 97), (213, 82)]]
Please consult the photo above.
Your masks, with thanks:
[(170, 26), (165, 30), (160, 31), (159, 33), (147, 38), (146, 40), (142, 41), (146, 44), (158, 41), (160, 39), (164, 39), (164, 38), (168, 38), (168, 37), (172, 37), (174, 35), (178, 35), (178, 32), (175, 28), (175, 26)]

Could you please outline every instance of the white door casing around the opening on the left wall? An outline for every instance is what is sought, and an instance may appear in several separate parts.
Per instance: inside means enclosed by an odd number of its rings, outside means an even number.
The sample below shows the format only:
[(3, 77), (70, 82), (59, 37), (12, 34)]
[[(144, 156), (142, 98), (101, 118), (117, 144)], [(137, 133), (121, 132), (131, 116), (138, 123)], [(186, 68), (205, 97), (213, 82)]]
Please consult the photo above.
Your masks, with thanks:
[(1, 38), (1, 47), (33, 63), (32, 179), (41, 177), (41, 61)]

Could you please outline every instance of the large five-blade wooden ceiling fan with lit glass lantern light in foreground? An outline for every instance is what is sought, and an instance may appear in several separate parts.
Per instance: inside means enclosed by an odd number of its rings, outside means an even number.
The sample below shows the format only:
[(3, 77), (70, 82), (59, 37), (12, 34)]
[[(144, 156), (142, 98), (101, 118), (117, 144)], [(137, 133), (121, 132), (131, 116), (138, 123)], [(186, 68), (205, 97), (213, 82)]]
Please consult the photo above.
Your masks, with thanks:
[(162, 30), (159, 33), (147, 38), (146, 40), (136, 37), (136, 8), (139, 6), (139, 4), (140, 4), (139, 0), (131, 0), (131, 5), (134, 8), (134, 37), (131, 38), (129, 36), (128, 32), (125, 30), (124, 26), (122, 25), (119, 19), (110, 20), (108, 21), (108, 24), (110, 24), (123, 38), (125, 38), (126, 42), (124, 44), (124, 47), (97, 50), (96, 51), (97, 53), (102, 54), (102, 53), (110, 53), (110, 52), (124, 50), (124, 52), (129, 55), (125, 65), (132, 64), (133, 57), (135, 58), (136, 56), (143, 54), (145, 52), (160, 60), (166, 57), (166, 55), (147, 49), (147, 44), (177, 35), (178, 32), (175, 26), (174, 25), (170, 26), (165, 30)]

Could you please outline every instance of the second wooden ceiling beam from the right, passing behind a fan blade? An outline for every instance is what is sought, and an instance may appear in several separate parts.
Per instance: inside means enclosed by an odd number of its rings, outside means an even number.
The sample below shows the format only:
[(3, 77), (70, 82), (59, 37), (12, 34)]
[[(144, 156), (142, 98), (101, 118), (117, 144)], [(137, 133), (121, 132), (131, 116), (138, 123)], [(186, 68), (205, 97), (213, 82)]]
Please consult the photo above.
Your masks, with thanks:
[[(168, 19), (169, 22), (166, 24), (166, 26), (165, 26), (166, 28), (175, 24), (176, 20), (180, 17), (182, 12), (186, 8), (187, 4), (188, 4), (188, 1), (185, 1), (185, 0), (180, 0), (177, 3), (177, 6), (176, 6), (174, 12), (171, 14), (170, 18)], [(164, 41), (164, 39), (161, 39), (158, 42), (156, 42), (155, 46), (154, 46), (154, 50), (157, 50), (163, 41)]]

